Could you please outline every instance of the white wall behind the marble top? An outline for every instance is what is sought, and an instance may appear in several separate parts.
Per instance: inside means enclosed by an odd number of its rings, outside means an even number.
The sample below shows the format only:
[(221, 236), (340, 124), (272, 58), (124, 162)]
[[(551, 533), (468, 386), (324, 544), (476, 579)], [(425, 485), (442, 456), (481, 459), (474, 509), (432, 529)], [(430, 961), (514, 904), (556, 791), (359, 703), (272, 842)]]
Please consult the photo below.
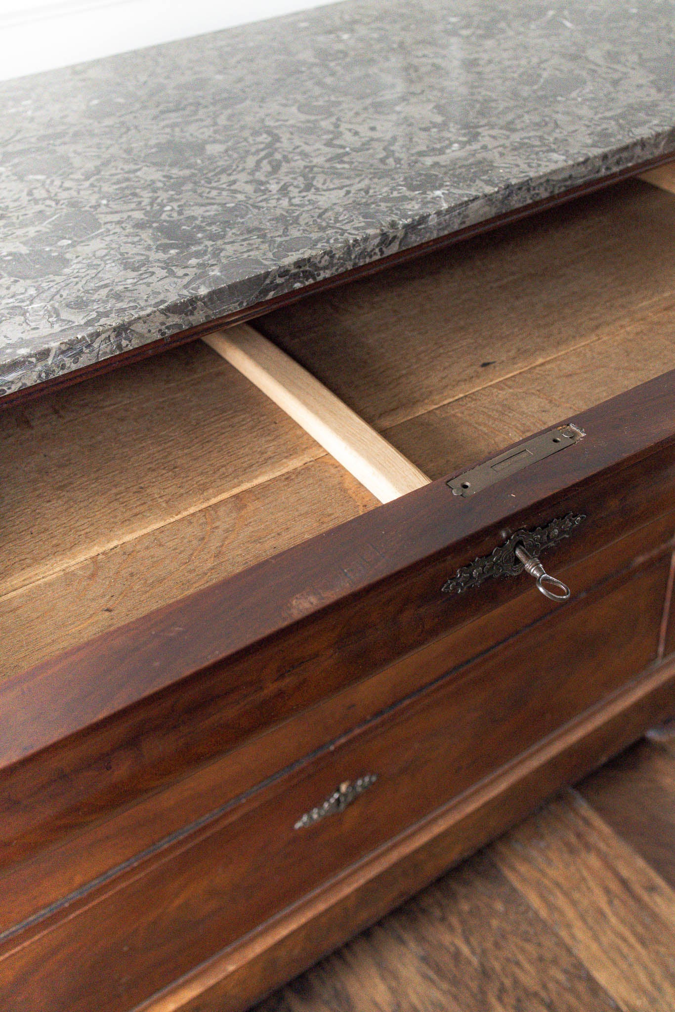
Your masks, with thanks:
[(0, 0), (0, 80), (334, 0)]

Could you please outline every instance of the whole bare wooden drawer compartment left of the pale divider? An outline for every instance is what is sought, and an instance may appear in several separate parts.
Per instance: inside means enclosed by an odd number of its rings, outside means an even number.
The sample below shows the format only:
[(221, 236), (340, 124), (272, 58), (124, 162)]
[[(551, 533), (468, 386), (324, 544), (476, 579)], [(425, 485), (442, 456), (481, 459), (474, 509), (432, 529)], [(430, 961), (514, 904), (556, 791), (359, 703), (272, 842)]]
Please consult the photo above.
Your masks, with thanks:
[(200, 345), (0, 414), (0, 678), (376, 505)]

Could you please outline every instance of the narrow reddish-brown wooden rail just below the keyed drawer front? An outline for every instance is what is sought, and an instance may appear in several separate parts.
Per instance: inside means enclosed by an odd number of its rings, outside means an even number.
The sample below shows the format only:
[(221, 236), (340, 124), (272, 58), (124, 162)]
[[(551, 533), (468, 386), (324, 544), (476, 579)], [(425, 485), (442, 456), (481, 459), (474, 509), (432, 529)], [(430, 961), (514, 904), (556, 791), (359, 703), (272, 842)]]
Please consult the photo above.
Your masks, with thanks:
[[(563, 564), (558, 554), (551, 554), (546, 561), (552, 571), (570, 584), (576, 598), (621, 572), (628, 578), (640, 560), (666, 553), (674, 530), (675, 513), (670, 512), (581, 561)], [(161, 845), (167, 837), (210, 817), (224, 805), (237, 802), (279, 769), (303, 760), (326, 742), (348, 734), (451, 668), (485, 653), (491, 644), (504, 642), (538, 621), (552, 605), (537, 593), (533, 581), (527, 584), (528, 590), (489, 614), (438, 637), (395, 665), (228, 752), (160, 794), (124, 807), (60, 845), (17, 862), (0, 878), (0, 932), (148, 848)], [(483, 588), (475, 592), (474, 599), (482, 592)], [(452, 607), (450, 598), (446, 603)], [(18, 858), (18, 841), (13, 843)]]

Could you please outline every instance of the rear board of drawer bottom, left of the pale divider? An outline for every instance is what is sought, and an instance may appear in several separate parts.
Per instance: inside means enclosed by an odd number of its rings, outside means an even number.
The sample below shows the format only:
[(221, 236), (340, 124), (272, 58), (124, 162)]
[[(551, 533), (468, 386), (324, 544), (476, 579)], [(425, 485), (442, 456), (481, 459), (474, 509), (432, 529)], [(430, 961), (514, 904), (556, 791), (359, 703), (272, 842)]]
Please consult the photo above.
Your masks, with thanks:
[(199, 346), (3, 413), (0, 425), (3, 594), (322, 454)]

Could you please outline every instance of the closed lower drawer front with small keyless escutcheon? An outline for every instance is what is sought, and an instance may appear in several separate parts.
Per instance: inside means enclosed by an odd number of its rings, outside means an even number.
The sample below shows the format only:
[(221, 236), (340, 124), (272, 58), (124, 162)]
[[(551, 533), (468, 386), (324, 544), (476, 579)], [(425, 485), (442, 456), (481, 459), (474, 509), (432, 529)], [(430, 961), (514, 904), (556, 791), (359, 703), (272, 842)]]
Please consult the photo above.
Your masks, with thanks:
[[(550, 613), (22, 933), (0, 963), (7, 1007), (134, 1008), (596, 704), (655, 659), (668, 566)], [(367, 773), (350, 807), (293, 828)]]

